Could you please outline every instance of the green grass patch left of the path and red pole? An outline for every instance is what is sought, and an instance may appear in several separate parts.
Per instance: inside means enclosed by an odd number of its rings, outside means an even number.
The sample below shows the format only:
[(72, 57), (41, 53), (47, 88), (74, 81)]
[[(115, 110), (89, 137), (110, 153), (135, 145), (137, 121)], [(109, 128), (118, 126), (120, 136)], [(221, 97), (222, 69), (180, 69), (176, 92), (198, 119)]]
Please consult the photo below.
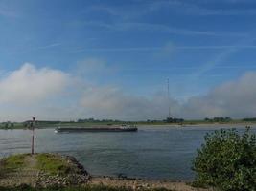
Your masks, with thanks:
[(0, 160), (0, 177), (24, 167), (28, 154), (13, 155)]

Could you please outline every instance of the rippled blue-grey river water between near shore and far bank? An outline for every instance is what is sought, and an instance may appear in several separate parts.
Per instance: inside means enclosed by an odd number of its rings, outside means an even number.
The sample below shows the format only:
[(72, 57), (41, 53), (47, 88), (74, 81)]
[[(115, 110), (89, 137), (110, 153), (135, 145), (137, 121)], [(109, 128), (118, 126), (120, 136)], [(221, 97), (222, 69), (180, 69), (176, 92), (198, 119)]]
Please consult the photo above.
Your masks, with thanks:
[[(92, 175), (192, 180), (197, 148), (207, 132), (220, 128), (142, 126), (138, 132), (58, 134), (54, 129), (39, 129), (35, 130), (35, 152), (72, 155)], [(244, 131), (242, 126), (237, 128)], [(256, 133), (256, 126), (252, 132)], [(28, 153), (30, 146), (31, 131), (0, 130), (0, 157)]]

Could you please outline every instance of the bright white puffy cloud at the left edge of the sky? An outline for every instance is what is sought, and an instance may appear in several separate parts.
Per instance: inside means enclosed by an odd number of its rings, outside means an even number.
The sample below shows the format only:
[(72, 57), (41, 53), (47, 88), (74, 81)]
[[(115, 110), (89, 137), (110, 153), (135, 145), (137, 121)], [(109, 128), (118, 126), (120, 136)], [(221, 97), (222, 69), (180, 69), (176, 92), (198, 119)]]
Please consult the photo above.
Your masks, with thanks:
[(48, 68), (37, 69), (24, 64), (20, 69), (0, 79), (0, 104), (30, 104), (63, 91), (69, 75)]

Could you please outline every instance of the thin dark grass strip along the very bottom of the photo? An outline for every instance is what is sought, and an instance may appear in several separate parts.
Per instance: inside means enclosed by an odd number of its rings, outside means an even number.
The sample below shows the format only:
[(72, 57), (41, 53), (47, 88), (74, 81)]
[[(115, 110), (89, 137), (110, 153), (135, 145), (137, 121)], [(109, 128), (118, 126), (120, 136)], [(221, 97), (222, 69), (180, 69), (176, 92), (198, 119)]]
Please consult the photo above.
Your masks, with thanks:
[[(104, 185), (84, 186), (84, 187), (65, 187), (65, 188), (33, 188), (28, 185), (18, 187), (0, 187), (0, 191), (132, 191), (131, 188), (110, 187)], [(146, 191), (141, 189), (141, 191)], [(167, 191), (167, 189), (147, 189), (147, 191)]]

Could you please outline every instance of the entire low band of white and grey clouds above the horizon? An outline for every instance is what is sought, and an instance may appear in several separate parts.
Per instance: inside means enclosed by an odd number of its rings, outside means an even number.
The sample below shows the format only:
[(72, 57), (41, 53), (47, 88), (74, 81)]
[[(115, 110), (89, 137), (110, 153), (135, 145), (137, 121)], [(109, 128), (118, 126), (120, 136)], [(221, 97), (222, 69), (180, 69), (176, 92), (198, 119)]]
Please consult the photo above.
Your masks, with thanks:
[[(168, 97), (164, 92), (137, 96), (111, 85), (91, 85), (86, 81), (76, 84), (72, 75), (32, 64), (3, 75), (0, 120), (22, 121), (33, 115), (58, 120), (87, 117), (146, 120), (168, 116)], [(182, 103), (170, 97), (171, 114), (184, 118), (256, 117), (255, 81), (256, 72), (249, 72)]]

